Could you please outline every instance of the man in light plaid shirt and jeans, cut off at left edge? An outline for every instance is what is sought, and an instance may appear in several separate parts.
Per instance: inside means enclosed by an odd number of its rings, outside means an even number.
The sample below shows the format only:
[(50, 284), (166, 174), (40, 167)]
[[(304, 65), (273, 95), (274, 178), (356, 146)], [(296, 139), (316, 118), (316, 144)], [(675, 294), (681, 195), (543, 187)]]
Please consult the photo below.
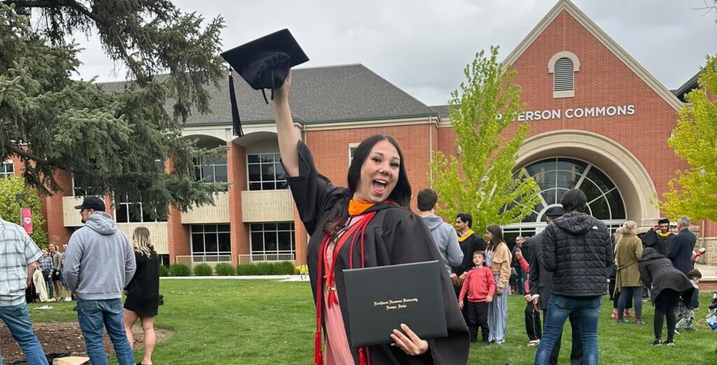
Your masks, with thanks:
[[(42, 255), (22, 227), (0, 218), (0, 318), (20, 345), (29, 365), (48, 365), (32, 331), (25, 289)], [(0, 364), (2, 359), (0, 358)]]

